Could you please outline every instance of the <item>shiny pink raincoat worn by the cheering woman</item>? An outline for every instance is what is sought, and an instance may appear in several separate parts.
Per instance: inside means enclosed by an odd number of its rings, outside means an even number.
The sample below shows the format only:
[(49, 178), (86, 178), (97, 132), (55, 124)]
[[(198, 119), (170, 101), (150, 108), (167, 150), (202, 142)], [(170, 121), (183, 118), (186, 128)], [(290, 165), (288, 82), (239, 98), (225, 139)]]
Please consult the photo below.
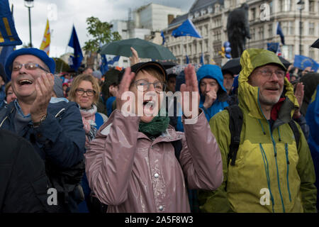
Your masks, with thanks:
[[(86, 151), (86, 175), (108, 212), (190, 212), (186, 190), (217, 189), (223, 164), (201, 111), (185, 133), (172, 126), (155, 140), (138, 132), (140, 118), (113, 111)], [(179, 161), (172, 141), (181, 140)]]

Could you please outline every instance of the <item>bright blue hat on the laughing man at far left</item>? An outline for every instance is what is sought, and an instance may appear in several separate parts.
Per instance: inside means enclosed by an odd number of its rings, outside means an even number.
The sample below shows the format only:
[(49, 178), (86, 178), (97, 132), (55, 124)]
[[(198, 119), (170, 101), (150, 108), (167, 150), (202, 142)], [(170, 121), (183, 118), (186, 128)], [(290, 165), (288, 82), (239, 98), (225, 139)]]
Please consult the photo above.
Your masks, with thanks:
[(55, 60), (53, 58), (47, 56), (47, 53), (43, 50), (39, 50), (37, 48), (22, 48), (19, 50), (15, 50), (9, 55), (9, 57), (6, 59), (6, 64), (4, 66), (6, 70), (6, 78), (11, 80), (11, 66), (13, 63), (13, 60), (16, 59), (16, 57), (20, 55), (34, 55), (35, 57), (39, 57), (40, 60), (42, 60), (47, 67), (49, 67), (50, 72), (52, 74), (55, 73)]

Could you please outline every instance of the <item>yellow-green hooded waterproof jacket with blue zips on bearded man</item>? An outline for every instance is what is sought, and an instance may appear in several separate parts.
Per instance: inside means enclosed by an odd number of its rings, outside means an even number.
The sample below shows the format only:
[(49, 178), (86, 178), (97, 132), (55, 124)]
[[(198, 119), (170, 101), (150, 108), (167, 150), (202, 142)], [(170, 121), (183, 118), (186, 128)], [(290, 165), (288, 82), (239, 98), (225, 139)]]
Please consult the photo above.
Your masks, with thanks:
[[(258, 57), (256, 57), (258, 55)], [(214, 192), (200, 191), (203, 212), (315, 212), (315, 172), (306, 138), (296, 140), (289, 121), (298, 101), (285, 78), (284, 104), (272, 128), (259, 106), (259, 89), (248, 84), (252, 71), (276, 63), (272, 52), (249, 49), (242, 53), (238, 99), (243, 112), (240, 146), (235, 165), (228, 165), (229, 114), (221, 111), (211, 118), (223, 158), (223, 184)]]

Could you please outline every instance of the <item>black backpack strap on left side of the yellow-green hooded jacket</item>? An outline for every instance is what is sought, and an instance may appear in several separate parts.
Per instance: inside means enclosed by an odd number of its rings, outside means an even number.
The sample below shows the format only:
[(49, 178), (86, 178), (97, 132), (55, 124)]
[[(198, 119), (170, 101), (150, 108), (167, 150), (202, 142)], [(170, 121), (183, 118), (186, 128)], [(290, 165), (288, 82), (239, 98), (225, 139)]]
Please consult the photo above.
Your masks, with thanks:
[(235, 165), (237, 150), (240, 145), (240, 133), (242, 131), (243, 115), (239, 106), (227, 106), (225, 109), (229, 114), (230, 146), (228, 153), (228, 163)]

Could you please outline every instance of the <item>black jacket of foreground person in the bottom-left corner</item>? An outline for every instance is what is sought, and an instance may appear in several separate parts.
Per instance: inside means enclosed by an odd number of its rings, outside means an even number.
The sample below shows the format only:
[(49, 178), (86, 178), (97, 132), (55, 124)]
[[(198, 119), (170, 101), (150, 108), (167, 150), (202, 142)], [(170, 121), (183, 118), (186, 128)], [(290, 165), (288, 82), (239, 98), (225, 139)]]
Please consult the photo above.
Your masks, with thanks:
[(48, 212), (45, 165), (28, 140), (0, 130), (0, 213)]

